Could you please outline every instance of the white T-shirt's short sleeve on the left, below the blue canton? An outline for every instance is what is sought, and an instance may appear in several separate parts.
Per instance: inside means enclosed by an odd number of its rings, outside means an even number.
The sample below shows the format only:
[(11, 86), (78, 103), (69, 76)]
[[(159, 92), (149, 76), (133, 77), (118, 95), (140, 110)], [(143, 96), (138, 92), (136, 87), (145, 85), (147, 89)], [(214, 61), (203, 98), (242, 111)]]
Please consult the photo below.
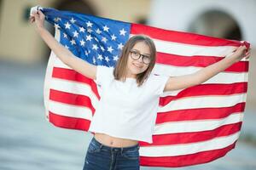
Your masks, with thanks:
[(113, 79), (113, 69), (108, 66), (97, 65), (96, 84), (99, 88), (106, 86)]

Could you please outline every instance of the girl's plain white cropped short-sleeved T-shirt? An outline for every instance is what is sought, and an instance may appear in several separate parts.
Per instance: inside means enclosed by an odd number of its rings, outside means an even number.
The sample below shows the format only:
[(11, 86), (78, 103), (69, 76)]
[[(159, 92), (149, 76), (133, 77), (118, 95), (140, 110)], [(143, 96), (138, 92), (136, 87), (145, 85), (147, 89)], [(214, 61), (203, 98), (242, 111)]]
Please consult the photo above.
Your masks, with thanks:
[(113, 77), (113, 68), (98, 65), (96, 84), (101, 99), (90, 122), (90, 132), (152, 143), (160, 94), (168, 77), (150, 74), (141, 87), (135, 78)]

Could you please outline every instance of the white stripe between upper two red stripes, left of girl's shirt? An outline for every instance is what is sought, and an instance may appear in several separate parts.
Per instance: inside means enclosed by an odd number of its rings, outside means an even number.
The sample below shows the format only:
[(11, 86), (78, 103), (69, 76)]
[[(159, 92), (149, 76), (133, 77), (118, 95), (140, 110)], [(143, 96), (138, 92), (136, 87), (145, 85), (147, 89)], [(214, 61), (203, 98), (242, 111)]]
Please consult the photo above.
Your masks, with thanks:
[(91, 91), (90, 85), (86, 83), (72, 82), (66, 81), (64, 79), (52, 78), (50, 88), (71, 94), (89, 96), (91, 104), (95, 109), (99, 101), (96, 97), (96, 94), (94, 94)]

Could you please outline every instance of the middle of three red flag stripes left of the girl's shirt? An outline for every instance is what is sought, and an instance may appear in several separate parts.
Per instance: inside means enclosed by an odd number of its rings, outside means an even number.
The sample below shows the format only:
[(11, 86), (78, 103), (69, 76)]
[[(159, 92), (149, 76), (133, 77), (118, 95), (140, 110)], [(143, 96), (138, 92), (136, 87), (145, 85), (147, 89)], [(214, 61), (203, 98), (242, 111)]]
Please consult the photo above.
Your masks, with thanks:
[(68, 105), (85, 106), (89, 108), (93, 114), (95, 112), (95, 108), (91, 104), (90, 97), (88, 96), (79, 95), (79, 94), (70, 94), (67, 92), (61, 92), (59, 90), (50, 89), (49, 99), (53, 101), (65, 103)]

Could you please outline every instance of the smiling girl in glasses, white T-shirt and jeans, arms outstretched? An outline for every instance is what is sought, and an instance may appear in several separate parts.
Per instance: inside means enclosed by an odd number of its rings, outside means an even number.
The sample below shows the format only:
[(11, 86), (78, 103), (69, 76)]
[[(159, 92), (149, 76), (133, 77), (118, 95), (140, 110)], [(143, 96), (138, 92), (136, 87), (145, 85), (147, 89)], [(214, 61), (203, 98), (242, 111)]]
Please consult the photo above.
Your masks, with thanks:
[(138, 141), (152, 143), (152, 133), (160, 94), (189, 88), (207, 81), (243, 57), (250, 50), (241, 46), (227, 58), (200, 71), (180, 77), (156, 76), (154, 42), (146, 36), (134, 36), (125, 43), (114, 69), (90, 65), (75, 57), (44, 28), (44, 14), (32, 13), (31, 22), (40, 37), (63, 63), (85, 77), (96, 80), (101, 99), (90, 123), (95, 135), (90, 141), (84, 169), (139, 169)]

